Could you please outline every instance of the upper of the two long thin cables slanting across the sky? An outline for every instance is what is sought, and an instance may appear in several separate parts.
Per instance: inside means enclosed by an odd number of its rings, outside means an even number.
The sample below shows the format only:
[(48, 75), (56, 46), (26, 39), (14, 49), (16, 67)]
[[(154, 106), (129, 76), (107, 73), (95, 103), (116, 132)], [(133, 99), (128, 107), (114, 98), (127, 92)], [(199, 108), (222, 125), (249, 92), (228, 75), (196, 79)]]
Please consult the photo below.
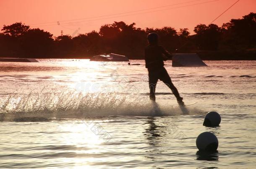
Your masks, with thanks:
[[(126, 13), (135, 13), (135, 12), (140, 12), (140, 11), (144, 11), (144, 10), (152, 10), (152, 9), (164, 8), (164, 7), (168, 7), (168, 6), (181, 5), (181, 4), (185, 4), (185, 3), (193, 3), (193, 2), (196, 2), (196, 1), (201, 1), (201, 0), (191, 0), (191, 1), (184, 2), (184, 3), (175, 3), (175, 4), (159, 6), (159, 7), (154, 7), (154, 8), (146, 8), (146, 9), (142, 9), (142, 10), (133, 10), (133, 11), (124, 12), (124, 13), (115, 13), (115, 14), (109, 14), (109, 15), (101, 15), (101, 16), (94, 16), (94, 17), (89, 17), (89, 18), (71, 19), (71, 20), (59, 20), (59, 21), (47, 22), (47, 23), (56, 23), (56, 22), (58, 23), (58, 22), (66, 22), (66, 21), (73, 21), (73, 20), (102, 18), (102, 17), (107, 17), (107, 16), (113, 16), (113, 15), (120, 15), (120, 14), (126, 14)], [(34, 23), (34, 24), (30, 24), (30, 25), (41, 25), (41, 24), (47, 24), (47, 23)]]

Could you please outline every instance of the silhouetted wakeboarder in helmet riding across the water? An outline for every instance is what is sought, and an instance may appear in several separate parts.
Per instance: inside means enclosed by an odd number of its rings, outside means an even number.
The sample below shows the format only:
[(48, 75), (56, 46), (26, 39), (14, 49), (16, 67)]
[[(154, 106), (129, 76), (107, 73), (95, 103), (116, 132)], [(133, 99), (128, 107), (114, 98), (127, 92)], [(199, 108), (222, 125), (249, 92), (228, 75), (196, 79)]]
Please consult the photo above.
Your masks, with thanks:
[(164, 67), (164, 61), (170, 59), (172, 55), (161, 45), (158, 45), (158, 35), (156, 33), (149, 33), (148, 42), (149, 45), (145, 48), (145, 61), (146, 68), (149, 71), (150, 99), (152, 101), (156, 100), (155, 90), (159, 79), (172, 90), (179, 105), (184, 106), (183, 98), (180, 97), (177, 88), (172, 84), (171, 78)]

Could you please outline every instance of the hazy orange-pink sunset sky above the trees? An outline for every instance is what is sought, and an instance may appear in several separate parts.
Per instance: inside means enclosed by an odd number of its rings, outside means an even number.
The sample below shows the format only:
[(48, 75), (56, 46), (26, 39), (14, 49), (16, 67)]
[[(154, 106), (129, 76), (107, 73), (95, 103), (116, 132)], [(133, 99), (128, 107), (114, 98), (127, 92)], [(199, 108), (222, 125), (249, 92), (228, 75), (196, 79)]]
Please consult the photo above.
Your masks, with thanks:
[[(76, 36), (91, 30), (98, 31), (105, 23), (124, 21), (127, 24), (134, 22), (140, 28), (171, 26), (177, 30), (189, 28), (193, 32), (197, 24), (208, 25), (237, 0), (194, 0), (186, 3), (189, 1), (192, 0), (0, 0), (0, 28), (22, 22), (31, 28), (47, 30), (55, 36), (60, 35), (61, 30), (64, 34)], [(173, 5), (177, 3), (184, 4)], [(204, 4), (193, 5), (197, 3)], [(183, 7), (185, 5), (191, 6)], [(214, 23), (221, 26), (231, 18), (241, 18), (250, 12), (256, 13), (256, 0), (240, 0)], [(91, 18), (102, 15), (105, 17)], [(88, 19), (75, 20), (81, 18)], [(57, 21), (60, 21), (60, 25), (57, 25)], [(37, 23), (46, 24), (33, 25)]]

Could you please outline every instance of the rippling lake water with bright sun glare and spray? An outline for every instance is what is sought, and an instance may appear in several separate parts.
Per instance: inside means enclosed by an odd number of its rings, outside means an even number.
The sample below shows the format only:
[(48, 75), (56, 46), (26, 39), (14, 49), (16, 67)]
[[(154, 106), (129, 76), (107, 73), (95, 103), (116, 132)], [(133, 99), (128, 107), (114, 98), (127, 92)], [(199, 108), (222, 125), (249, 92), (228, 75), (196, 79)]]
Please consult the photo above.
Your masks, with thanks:
[[(39, 61), (0, 63), (0, 168), (256, 166), (256, 61), (167, 61), (184, 102), (197, 103), (180, 109), (159, 81), (159, 111), (144, 61)], [(219, 127), (202, 125), (209, 111), (221, 115)], [(198, 152), (204, 131), (217, 136), (217, 152)]]

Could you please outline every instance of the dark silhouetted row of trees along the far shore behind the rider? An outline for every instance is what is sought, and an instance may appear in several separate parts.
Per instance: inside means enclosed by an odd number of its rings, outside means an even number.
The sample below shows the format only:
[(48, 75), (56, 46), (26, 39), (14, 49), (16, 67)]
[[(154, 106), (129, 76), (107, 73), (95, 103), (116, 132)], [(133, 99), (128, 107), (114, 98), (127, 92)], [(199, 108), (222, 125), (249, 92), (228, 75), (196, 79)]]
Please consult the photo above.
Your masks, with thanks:
[[(171, 53), (199, 53), (209, 60), (255, 60), (256, 13), (231, 19), (221, 27), (199, 24), (191, 35), (187, 28), (136, 28), (123, 21), (102, 25), (97, 31), (76, 37), (54, 37), (23, 23), (4, 25), (0, 33), (0, 56), (19, 58), (90, 58), (102, 53), (118, 53), (130, 59), (143, 59), (146, 36), (155, 32)], [(177, 50), (178, 49), (178, 50)]]

